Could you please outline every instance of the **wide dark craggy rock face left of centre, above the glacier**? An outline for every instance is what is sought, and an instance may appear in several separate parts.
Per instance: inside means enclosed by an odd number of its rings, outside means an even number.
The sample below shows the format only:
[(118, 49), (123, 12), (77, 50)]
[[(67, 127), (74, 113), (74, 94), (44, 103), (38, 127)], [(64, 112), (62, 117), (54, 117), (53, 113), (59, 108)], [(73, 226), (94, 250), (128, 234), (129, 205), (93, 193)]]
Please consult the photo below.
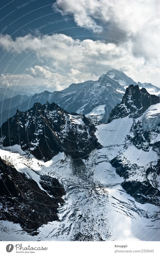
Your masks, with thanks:
[(74, 159), (87, 159), (93, 149), (100, 148), (93, 122), (84, 115), (69, 114), (55, 103), (35, 103), (26, 112), (17, 110), (8, 122), (1, 128), (3, 146), (18, 144), (39, 160), (51, 160), (63, 151)]

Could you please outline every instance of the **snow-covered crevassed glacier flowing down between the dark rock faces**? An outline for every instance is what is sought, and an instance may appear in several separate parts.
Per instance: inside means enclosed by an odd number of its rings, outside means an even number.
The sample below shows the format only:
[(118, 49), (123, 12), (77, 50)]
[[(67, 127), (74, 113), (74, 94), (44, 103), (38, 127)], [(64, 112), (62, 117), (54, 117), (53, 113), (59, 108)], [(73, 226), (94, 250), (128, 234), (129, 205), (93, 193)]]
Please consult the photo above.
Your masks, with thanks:
[[(121, 124), (122, 122), (122, 124)], [(2, 159), (32, 177), (56, 178), (63, 185), (66, 195), (58, 207), (58, 221), (42, 225), (33, 236), (19, 224), (1, 221), (1, 239), (5, 241), (159, 241), (159, 213), (153, 204), (140, 204), (127, 194), (121, 184), (124, 181), (110, 160), (125, 145), (125, 137), (133, 124), (127, 120), (115, 119), (109, 124), (97, 125), (96, 135), (103, 148), (94, 150), (87, 160), (77, 162), (59, 153), (52, 160), (43, 162), (35, 158), (20, 156), (18, 147), (0, 150)], [(124, 127), (115, 137), (119, 125)], [(114, 140), (115, 138), (115, 140)], [(24, 153), (21, 152), (20, 153)], [(38, 174), (38, 176), (36, 175)], [(22, 184), (23, 184), (22, 180)], [(33, 207), (34, 209), (34, 207)], [(125, 226), (125, 229), (124, 229)], [(16, 237), (15, 237), (16, 234)]]

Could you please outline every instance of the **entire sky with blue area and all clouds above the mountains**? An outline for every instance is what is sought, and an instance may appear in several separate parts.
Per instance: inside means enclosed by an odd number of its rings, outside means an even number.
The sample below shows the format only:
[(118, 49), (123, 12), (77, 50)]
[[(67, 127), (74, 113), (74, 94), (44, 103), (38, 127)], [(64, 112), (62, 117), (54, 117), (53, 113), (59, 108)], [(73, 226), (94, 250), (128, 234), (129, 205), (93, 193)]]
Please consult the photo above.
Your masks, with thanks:
[(160, 86), (159, 6), (156, 0), (2, 0), (0, 86), (62, 90), (110, 68)]

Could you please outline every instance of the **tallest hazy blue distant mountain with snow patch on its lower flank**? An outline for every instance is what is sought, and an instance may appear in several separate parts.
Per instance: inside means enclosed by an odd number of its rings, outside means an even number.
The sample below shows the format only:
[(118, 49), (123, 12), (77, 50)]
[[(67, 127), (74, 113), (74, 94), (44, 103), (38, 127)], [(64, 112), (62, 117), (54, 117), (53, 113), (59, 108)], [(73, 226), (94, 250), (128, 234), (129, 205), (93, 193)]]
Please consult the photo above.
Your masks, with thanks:
[(103, 74), (97, 81), (72, 84), (65, 90), (53, 93), (51, 98), (68, 112), (82, 112), (94, 121), (106, 122), (110, 111), (125, 93), (125, 87), (119, 84), (117, 77), (113, 79), (108, 74)]

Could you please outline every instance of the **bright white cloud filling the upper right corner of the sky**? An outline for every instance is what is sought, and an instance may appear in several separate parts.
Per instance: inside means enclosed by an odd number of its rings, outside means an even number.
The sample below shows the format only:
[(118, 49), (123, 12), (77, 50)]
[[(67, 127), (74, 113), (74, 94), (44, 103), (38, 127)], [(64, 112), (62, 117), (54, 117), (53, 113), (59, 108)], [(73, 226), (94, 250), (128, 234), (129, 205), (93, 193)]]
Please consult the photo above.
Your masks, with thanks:
[[(57, 0), (53, 8), (60, 10), (62, 15), (73, 15), (78, 26), (94, 33), (103, 31), (107, 36), (114, 33), (115, 40), (119, 41), (124, 36), (122, 33), (126, 33), (125, 42), (132, 40), (140, 55), (154, 60), (157, 55), (160, 57), (159, 0)], [(109, 30), (106, 32), (103, 27)]]

